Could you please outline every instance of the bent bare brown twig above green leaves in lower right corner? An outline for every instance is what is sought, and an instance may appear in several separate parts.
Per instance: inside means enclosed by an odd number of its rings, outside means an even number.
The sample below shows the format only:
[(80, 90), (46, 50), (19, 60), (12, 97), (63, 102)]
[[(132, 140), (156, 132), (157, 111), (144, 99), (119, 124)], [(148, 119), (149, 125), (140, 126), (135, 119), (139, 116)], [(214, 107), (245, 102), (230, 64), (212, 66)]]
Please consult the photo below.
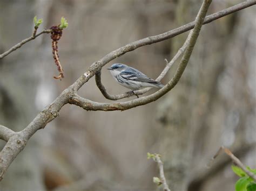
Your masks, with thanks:
[(228, 157), (230, 157), (231, 160), (233, 160), (233, 162), (236, 165), (238, 165), (244, 172), (246, 172), (246, 174), (248, 176), (250, 176), (254, 181), (256, 181), (256, 174), (253, 174), (252, 172), (248, 171), (248, 169), (245, 167), (245, 165), (242, 164), (242, 162), (237, 157), (235, 157), (235, 155), (230, 150), (228, 150), (228, 148), (226, 148), (224, 146), (221, 146), (219, 148), (217, 153), (213, 156), (211, 162), (213, 162), (213, 160), (218, 157), (218, 155), (221, 153), (221, 151), (224, 151), (228, 155)]

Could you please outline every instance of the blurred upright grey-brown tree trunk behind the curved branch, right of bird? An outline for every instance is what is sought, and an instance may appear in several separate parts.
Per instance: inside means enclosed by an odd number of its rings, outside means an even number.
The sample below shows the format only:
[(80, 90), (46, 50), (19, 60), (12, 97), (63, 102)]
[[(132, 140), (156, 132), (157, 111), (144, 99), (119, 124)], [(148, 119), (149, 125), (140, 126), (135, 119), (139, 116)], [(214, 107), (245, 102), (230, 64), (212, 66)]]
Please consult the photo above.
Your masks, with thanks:
[[(187, 23), (191, 18), (195, 18), (199, 1), (178, 1), (176, 6), (177, 26)], [(193, 10), (193, 12), (192, 12)], [(204, 27), (204, 26), (203, 26)], [(173, 55), (183, 45), (187, 34), (183, 34), (173, 39)], [(200, 36), (199, 36), (200, 37)], [(198, 46), (198, 43), (197, 45)], [(194, 54), (192, 54), (194, 60)], [(190, 61), (192, 62), (192, 61)], [(162, 137), (160, 153), (164, 155), (165, 174), (172, 190), (185, 191), (188, 184), (188, 168), (191, 160), (191, 116), (193, 112), (194, 88), (193, 79), (197, 79), (197, 67), (192, 63), (183, 74), (176, 88), (168, 94), (164, 101), (160, 103), (159, 116), (162, 122)], [(173, 69), (174, 70), (174, 69)]]

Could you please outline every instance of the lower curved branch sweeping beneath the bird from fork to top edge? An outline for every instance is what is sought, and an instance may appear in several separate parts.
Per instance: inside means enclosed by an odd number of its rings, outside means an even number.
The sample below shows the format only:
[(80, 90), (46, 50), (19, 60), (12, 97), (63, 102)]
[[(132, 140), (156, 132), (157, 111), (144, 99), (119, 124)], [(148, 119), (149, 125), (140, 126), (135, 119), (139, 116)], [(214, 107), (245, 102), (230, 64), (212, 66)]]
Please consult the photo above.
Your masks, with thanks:
[(93, 110), (93, 111), (122, 110), (123, 111), (123, 110), (138, 107), (139, 105), (145, 105), (147, 103), (158, 100), (158, 98), (165, 95), (174, 86), (176, 86), (181, 75), (183, 74), (183, 72), (187, 66), (187, 62), (190, 60), (190, 56), (192, 54), (194, 45), (196, 44), (197, 38), (199, 36), (199, 32), (201, 30), (201, 26), (203, 25), (204, 18), (205, 18), (205, 15), (206, 15), (206, 12), (208, 10), (208, 6), (210, 5), (210, 3), (211, 3), (211, 0), (204, 0), (203, 5), (201, 6), (201, 8), (198, 12), (198, 16), (196, 18), (196, 25), (194, 27), (194, 30), (191, 33), (191, 36), (189, 35), (189, 38), (188, 38), (187, 49), (183, 55), (183, 58), (180, 60), (179, 66), (178, 66), (176, 73), (174, 74), (172, 80), (169, 81), (163, 88), (158, 90), (156, 93), (151, 94), (149, 96), (140, 97), (136, 100), (120, 102), (120, 103), (98, 103), (98, 102), (93, 102), (93, 101), (87, 100), (83, 97), (80, 97), (77, 94), (74, 94), (74, 96), (71, 98), (69, 103), (78, 105), (79, 107), (81, 107), (85, 110)]

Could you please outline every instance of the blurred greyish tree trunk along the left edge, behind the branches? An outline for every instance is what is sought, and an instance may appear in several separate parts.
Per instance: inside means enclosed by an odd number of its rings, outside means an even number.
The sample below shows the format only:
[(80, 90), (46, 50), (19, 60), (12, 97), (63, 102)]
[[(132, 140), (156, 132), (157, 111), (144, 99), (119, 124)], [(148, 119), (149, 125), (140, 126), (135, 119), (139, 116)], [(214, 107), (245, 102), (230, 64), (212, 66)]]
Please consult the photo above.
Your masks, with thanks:
[[(32, 1), (1, 1), (0, 47), (11, 46), (27, 38), (32, 32)], [(19, 11), (23, 10), (22, 14)], [(29, 18), (29, 19), (28, 19)], [(29, 46), (29, 45), (28, 45)], [(2, 52), (1, 51), (1, 52)], [(25, 49), (11, 53), (0, 62), (0, 121), (14, 131), (22, 130), (35, 116), (35, 87), (37, 79), (33, 67), (33, 52)], [(5, 62), (3, 64), (3, 61)], [(1, 147), (3, 147), (1, 142)], [(31, 139), (8, 168), (0, 182), (2, 191), (44, 190), (38, 144)]]

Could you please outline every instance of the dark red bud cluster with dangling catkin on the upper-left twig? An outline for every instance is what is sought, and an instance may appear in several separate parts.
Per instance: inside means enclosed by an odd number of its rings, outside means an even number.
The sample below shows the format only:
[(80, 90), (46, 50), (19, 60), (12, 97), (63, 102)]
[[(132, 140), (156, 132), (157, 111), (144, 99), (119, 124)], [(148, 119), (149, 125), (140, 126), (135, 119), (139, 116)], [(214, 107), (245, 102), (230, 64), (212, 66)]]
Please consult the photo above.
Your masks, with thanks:
[(62, 79), (64, 77), (64, 73), (63, 73), (63, 69), (62, 69), (62, 65), (60, 65), (59, 62), (59, 54), (58, 54), (58, 40), (60, 39), (60, 37), (62, 37), (62, 30), (59, 29), (58, 26), (52, 26), (50, 28), (52, 30), (51, 32), (51, 39), (52, 39), (52, 54), (53, 54), (53, 59), (55, 60), (55, 64), (57, 66), (57, 69), (59, 71), (59, 75), (53, 76), (55, 79)]

